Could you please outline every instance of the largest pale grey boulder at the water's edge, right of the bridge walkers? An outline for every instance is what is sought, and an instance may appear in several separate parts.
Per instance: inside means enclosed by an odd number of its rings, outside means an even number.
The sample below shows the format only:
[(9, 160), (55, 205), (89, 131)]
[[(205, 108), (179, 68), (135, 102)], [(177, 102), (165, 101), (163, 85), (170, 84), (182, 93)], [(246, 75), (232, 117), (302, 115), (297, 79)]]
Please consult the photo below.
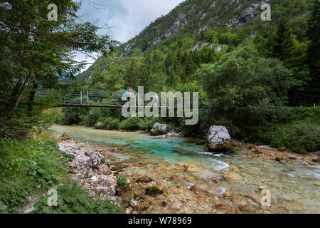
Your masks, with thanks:
[(233, 152), (227, 128), (211, 126), (206, 136), (206, 150), (209, 152)]

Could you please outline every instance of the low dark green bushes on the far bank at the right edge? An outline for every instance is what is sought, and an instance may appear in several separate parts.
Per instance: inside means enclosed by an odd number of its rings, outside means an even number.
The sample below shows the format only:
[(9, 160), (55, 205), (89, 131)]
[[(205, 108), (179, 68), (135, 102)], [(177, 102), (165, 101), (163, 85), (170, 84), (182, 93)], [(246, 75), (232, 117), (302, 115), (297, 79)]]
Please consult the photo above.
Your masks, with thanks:
[(320, 108), (290, 108), (287, 121), (257, 125), (247, 130), (250, 142), (285, 146), (294, 152), (320, 150)]

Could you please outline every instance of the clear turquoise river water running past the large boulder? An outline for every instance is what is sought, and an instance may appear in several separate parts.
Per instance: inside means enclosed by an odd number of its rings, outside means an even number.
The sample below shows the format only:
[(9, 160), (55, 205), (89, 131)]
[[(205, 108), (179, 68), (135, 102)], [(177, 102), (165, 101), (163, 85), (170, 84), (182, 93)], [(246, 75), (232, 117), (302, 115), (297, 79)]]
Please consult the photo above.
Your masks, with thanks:
[[(208, 192), (222, 195), (226, 190), (234, 190), (244, 195), (254, 194), (257, 186), (264, 185), (272, 192), (272, 199), (290, 209), (290, 212), (320, 213), (319, 187), (314, 182), (319, 181), (320, 166), (284, 165), (280, 162), (270, 162), (255, 159), (245, 155), (245, 150), (237, 150), (232, 155), (211, 154), (206, 152), (203, 145), (197, 145), (193, 139), (166, 138), (154, 139), (143, 133), (124, 133), (110, 130), (96, 130), (93, 128), (53, 126), (56, 136), (68, 133), (73, 140), (90, 142), (90, 145), (123, 147), (134, 155), (144, 152), (149, 162), (169, 161), (191, 163), (199, 167), (196, 172), (180, 173), (186, 180), (183, 185), (191, 187), (197, 182), (197, 187)], [(140, 153), (141, 155), (141, 153)], [(211, 181), (201, 182), (198, 177), (222, 178), (223, 169), (231, 165), (238, 167), (243, 177), (241, 182), (220, 182), (218, 188), (213, 189)], [(167, 166), (171, 169), (171, 165)], [(150, 170), (149, 170), (150, 171)], [(148, 170), (141, 170), (148, 172)], [(166, 175), (166, 172), (164, 172)], [(196, 177), (192, 177), (192, 175)]]

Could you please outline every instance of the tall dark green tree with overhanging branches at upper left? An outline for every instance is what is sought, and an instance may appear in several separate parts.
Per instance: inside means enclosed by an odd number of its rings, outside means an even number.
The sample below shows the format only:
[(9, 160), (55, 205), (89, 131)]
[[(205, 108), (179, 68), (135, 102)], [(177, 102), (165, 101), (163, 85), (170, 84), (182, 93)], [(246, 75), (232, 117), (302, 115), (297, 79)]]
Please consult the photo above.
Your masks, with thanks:
[[(58, 21), (48, 21), (48, 4), (58, 6)], [(114, 51), (109, 36), (98, 36), (98, 27), (80, 23), (80, 3), (71, 0), (1, 1), (1, 95), (7, 116), (14, 113), (29, 84), (36, 90), (54, 88), (60, 78), (73, 78), (84, 66), (73, 61), (73, 52)]]

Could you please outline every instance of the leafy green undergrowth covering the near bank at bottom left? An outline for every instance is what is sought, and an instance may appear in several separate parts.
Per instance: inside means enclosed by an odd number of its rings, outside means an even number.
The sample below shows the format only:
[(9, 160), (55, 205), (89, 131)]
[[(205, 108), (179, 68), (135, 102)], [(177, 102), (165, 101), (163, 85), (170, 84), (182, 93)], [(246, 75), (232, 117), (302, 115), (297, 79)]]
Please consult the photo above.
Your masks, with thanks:
[(28, 202), (27, 197), (43, 195), (53, 187), (58, 190), (58, 207), (48, 207), (45, 196), (36, 203), (37, 213), (121, 212), (112, 202), (98, 204), (70, 182), (67, 165), (73, 158), (60, 152), (53, 141), (1, 139), (0, 213), (17, 212)]

